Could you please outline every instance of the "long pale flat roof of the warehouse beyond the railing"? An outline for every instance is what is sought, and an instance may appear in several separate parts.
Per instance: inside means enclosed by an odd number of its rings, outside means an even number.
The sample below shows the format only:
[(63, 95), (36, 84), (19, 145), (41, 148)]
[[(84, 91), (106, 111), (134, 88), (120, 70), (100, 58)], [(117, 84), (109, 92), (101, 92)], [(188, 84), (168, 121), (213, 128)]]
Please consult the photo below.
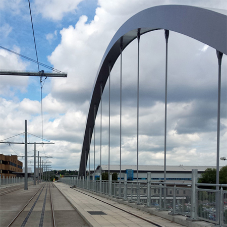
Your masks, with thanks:
[[(174, 171), (174, 172), (188, 172), (192, 171), (192, 169), (197, 169), (198, 171), (204, 172), (207, 168), (214, 168), (216, 169), (216, 166), (184, 166), (184, 165), (179, 165), (179, 166), (166, 166), (166, 171)], [(220, 169), (222, 166), (220, 166)], [(100, 166), (97, 166), (96, 170), (99, 170)], [(137, 170), (136, 165), (122, 165), (121, 170), (124, 171), (126, 169), (132, 169), (134, 171)], [(108, 165), (102, 165), (102, 170), (103, 171), (108, 171)], [(144, 172), (159, 172), (159, 171), (164, 171), (164, 166), (163, 165), (139, 165), (138, 170), (144, 171)], [(110, 165), (110, 171), (120, 171), (120, 165)]]

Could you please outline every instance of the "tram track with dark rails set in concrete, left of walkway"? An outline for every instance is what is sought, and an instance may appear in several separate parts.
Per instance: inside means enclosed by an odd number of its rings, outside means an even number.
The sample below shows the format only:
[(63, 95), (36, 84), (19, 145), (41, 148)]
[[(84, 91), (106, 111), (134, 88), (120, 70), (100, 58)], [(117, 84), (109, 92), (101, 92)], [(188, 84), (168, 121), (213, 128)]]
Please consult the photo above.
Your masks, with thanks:
[[(7, 226), (71, 226), (71, 224), (67, 224), (67, 222), (70, 221), (71, 216), (71, 219), (79, 217), (83, 220), (75, 207), (71, 207), (71, 203), (69, 203), (69, 201), (61, 195), (62, 194), (59, 193), (58, 188), (55, 187), (53, 183), (45, 183), (39, 188), (38, 191), (36, 191), (36, 193), (29, 199), (25, 206), (17, 213), (17, 215)], [(56, 210), (54, 203), (57, 203)], [(61, 207), (61, 204), (63, 204), (63, 207)], [(64, 206), (66, 207), (65, 210)], [(57, 216), (55, 215), (55, 211)], [(75, 223), (75, 221), (76, 220), (73, 220), (71, 223)], [(62, 223), (64, 223), (64, 225)], [(84, 222), (80, 226), (87, 225)]]

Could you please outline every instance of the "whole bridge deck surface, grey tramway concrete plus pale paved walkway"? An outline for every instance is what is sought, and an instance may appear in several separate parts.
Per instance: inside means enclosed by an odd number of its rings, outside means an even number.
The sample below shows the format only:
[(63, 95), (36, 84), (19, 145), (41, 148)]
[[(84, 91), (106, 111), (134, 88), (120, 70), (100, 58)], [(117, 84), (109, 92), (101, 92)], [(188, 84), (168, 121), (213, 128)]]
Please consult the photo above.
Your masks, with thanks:
[[(43, 185), (43, 183), (36, 186), (30, 185), (29, 190), (26, 191), (23, 189), (18, 189), (16, 191), (4, 190), (4, 193), (2, 193), (0, 196), (0, 226), (8, 226), (16, 214), (18, 214), (22, 207), (28, 202), (31, 196), (38, 192)], [(168, 212), (165, 211), (156, 211), (155, 215), (149, 214), (148, 212), (137, 209), (137, 206), (133, 208), (119, 203), (120, 200), (117, 201), (117, 199), (115, 199), (116, 201), (113, 201), (78, 188), (70, 188), (69, 185), (64, 183), (58, 182), (54, 185), (60, 190), (57, 190), (57, 188), (53, 185), (50, 187), (57, 226), (214, 226), (203, 221), (189, 222), (186, 221), (186, 217), (180, 215), (172, 217), (168, 215)], [(9, 185), (7, 188), (12, 189), (12, 185)], [(1, 187), (0, 192), (3, 192), (3, 189), (4, 188)], [(62, 194), (64, 196), (62, 196)], [(37, 196), (38, 194), (36, 197)], [(40, 201), (37, 202), (33, 213), (28, 220), (29, 226), (34, 226), (33, 224), (36, 222), (38, 223), (40, 220), (43, 198), (44, 196), (41, 194), (39, 198)], [(49, 201), (48, 198), (49, 197), (47, 195), (47, 201)], [(74, 209), (70, 204), (68, 204), (68, 202), (71, 203)], [(32, 204), (33, 202), (31, 202), (31, 204), (25, 208), (25, 210), (21, 213), (21, 216), (19, 216), (19, 218), (16, 220), (17, 223), (13, 223), (12, 226), (21, 226), (19, 222), (21, 222), (23, 217), (26, 216), (29, 207)], [(44, 227), (51, 226), (49, 222), (46, 222), (50, 216), (49, 213), (50, 207), (48, 204), (46, 204), (43, 222)], [(176, 222), (181, 224), (177, 224)]]

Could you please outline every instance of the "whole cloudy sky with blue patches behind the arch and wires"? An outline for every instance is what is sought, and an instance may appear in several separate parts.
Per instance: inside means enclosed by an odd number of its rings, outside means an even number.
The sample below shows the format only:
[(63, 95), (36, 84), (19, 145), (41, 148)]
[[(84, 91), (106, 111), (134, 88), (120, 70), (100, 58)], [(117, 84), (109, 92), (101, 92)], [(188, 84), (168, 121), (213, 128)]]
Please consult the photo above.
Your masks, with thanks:
[[(46, 79), (43, 86), (43, 136), (54, 145), (38, 145), (53, 156), (53, 169), (78, 169), (93, 84), (102, 56), (115, 32), (148, 7), (185, 4), (226, 9), (225, 0), (31, 0), (39, 61), (67, 78)], [(28, 1), (0, 1), (0, 46), (36, 59)], [(163, 30), (141, 37), (139, 164), (163, 165), (165, 39)], [(111, 72), (111, 164), (119, 164), (119, 61)], [(38, 71), (37, 65), (0, 48), (0, 70)], [(40, 70), (49, 72), (40, 67)], [(137, 43), (123, 53), (122, 164), (136, 165)], [(216, 165), (216, 51), (170, 32), (167, 165)], [(223, 56), (220, 156), (227, 156), (227, 58)], [(103, 95), (102, 163), (108, 160), (108, 83)], [(96, 164), (99, 163), (99, 112)], [(40, 142), (40, 82), (35, 77), (0, 77), (0, 140)], [(32, 135), (31, 135), (32, 134)], [(15, 136), (18, 135), (18, 136)], [(15, 136), (15, 137), (14, 137)], [(93, 168), (93, 139), (91, 163)], [(33, 154), (33, 145), (28, 147)], [(0, 153), (24, 155), (23, 145), (1, 144)], [(23, 158), (20, 158), (23, 161)], [(31, 165), (29, 159), (29, 165)], [(223, 161), (220, 163), (224, 165)]]

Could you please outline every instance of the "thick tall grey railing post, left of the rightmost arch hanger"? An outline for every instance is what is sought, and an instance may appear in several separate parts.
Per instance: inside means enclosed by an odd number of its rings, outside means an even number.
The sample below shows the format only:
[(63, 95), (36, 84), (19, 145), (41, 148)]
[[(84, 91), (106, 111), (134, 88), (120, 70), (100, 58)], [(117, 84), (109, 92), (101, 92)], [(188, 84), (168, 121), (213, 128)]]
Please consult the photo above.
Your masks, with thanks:
[(192, 170), (192, 196), (191, 196), (191, 219), (196, 220), (197, 219), (197, 191), (196, 191), (196, 183), (197, 183), (197, 175), (198, 170), (193, 169)]

